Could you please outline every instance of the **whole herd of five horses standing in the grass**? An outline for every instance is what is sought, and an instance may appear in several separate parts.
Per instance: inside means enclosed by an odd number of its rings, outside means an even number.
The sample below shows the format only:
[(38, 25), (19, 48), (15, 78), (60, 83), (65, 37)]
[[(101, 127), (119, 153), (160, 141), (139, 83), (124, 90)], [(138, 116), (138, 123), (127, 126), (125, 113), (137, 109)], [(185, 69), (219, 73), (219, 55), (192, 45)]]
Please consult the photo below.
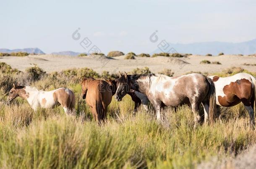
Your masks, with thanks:
[[(127, 75), (119, 72), (115, 80), (96, 80), (85, 78), (81, 83), (82, 98), (91, 109), (95, 121), (106, 121), (107, 106), (115, 95), (117, 101), (128, 94), (135, 103), (134, 112), (142, 104), (146, 111), (148, 102), (152, 103), (157, 120), (162, 121), (161, 108), (191, 106), (194, 115), (194, 127), (201, 121), (199, 107), (204, 107), (204, 123), (213, 122), (220, 111), (219, 106), (235, 106), (242, 102), (254, 122), (254, 102), (256, 101), (256, 78), (248, 73), (238, 73), (221, 78), (198, 73), (169, 77), (161, 74)], [(75, 94), (68, 88), (53, 91), (39, 91), (30, 86), (16, 86), (10, 90), (7, 103), (20, 96), (29, 102), (34, 111), (37, 107), (52, 108), (61, 105), (66, 114), (74, 111)]]

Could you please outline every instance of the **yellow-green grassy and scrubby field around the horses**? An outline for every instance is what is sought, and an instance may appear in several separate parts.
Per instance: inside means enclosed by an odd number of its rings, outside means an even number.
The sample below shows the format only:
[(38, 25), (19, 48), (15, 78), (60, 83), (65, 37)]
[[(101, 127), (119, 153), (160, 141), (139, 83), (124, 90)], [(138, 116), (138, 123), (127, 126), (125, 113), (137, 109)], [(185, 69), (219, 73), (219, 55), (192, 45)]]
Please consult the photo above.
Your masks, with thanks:
[[(232, 68), (218, 75), (234, 70), (245, 71)], [(42, 77), (34, 76), (38, 72)], [(107, 124), (98, 126), (81, 100), (80, 79), (72, 71), (45, 76), (30, 70), (21, 76), (10, 68), (0, 73), (0, 168), (196, 168), (213, 157), (240, 154), (256, 143), (242, 105), (222, 108), (215, 124), (193, 129), (193, 113), (187, 106), (176, 112), (166, 108), (160, 124), (154, 111), (141, 108), (133, 115), (133, 102), (125, 96), (121, 102), (112, 99)], [(61, 107), (35, 114), (21, 98), (7, 106), (6, 93), (17, 81), (44, 90), (70, 88), (77, 98), (76, 114), (66, 116)]]

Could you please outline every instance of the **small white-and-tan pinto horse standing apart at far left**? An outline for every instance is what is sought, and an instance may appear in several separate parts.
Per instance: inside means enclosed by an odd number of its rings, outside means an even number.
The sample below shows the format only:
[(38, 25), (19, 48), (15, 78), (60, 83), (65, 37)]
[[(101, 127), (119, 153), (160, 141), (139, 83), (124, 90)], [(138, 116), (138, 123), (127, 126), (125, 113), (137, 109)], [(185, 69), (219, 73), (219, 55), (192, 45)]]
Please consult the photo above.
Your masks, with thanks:
[(61, 105), (66, 114), (71, 113), (75, 109), (76, 96), (73, 91), (68, 88), (58, 88), (53, 91), (39, 91), (31, 86), (16, 86), (10, 90), (7, 97), (7, 103), (10, 104), (13, 99), (20, 96), (29, 102), (34, 112), (38, 107), (53, 108)]

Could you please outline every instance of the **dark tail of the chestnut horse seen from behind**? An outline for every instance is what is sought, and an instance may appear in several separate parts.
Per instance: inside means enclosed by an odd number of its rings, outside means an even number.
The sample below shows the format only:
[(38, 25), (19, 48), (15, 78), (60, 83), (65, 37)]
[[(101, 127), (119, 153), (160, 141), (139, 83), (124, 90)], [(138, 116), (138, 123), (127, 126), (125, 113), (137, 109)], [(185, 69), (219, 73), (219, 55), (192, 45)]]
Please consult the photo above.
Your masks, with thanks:
[(98, 120), (99, 124), (101, 124), (101, 121), (104, 120), (104, 106), (102, 104), (103, 99), (102, 99), (102, 83), (98, 84), (98, 97), (97, 97), (97, 102), (96, 102), (96, 111), (98, 114)]

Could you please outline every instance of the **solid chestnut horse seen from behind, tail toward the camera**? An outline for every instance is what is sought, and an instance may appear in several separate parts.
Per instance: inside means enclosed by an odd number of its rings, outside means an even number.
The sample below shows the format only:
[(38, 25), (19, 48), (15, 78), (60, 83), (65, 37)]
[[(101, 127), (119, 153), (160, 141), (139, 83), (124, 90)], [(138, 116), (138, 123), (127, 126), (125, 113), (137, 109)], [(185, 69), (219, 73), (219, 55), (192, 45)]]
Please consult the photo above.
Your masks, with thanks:
[(107, 106), (112, 101), (112, 89), (104, 80), (85, 78), (81, 83), (82, 97), (90, 106), (95, 121), (99, 124), (107, 120)]

